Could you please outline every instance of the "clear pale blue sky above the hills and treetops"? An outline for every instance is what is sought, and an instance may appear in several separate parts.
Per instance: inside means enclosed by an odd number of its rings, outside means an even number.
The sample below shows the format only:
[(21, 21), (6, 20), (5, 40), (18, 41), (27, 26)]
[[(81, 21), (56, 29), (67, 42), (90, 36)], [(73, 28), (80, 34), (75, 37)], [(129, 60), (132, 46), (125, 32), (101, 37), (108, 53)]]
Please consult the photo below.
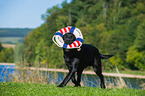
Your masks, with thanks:
[[(65, 0), (0, 0), (0, 28), (37, 28), (48, 8)], [(70, 0), (67, 0), (70, 3)]]

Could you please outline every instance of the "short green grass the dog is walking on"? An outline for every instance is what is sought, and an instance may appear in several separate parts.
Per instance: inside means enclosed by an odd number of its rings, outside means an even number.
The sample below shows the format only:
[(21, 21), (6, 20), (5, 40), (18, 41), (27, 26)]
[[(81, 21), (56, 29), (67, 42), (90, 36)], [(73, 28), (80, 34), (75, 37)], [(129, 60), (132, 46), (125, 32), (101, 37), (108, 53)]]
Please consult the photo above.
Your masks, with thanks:
[(145, 90), (101, 89), (94, 87), (58, 88), (34, 83), (0, 83), (0, 96), (145, 96)]

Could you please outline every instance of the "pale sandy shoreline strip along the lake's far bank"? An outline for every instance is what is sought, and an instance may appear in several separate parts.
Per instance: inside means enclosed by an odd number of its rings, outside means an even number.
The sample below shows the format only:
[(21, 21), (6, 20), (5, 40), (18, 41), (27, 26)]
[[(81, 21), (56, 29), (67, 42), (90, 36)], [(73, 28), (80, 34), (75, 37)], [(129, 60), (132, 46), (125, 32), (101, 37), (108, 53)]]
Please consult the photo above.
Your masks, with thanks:
[[(15, 65), (15, 63), (0, 63), (0, 65)], [(40, 70), (40, 71), (51, 71), (51, 72), (62, 72), (62, 73), (67, 73), (68, 72), (68, 70), (66, 70), (66, 69), (54, 69), (54, 68), (25, 67), (25, 69)], [(93, 72), (93, 71), (83, 71), (83, 74), (95, 75), (95, 72)], [(145, 75), (118, 74), (118, 73), (103, 73), (103, 75), (104, 76), (112, 76), (112, 77), (145, 79)]]

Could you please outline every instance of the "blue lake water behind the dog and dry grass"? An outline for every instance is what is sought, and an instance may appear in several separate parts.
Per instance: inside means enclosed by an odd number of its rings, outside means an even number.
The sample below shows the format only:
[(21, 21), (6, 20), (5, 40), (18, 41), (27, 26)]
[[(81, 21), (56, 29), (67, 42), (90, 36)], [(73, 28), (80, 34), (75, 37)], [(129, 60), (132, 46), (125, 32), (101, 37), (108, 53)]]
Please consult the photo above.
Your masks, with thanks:
[[(0, 65), (0, 82), (11, 81), (9, 75), (14, 75), (16, 72), (15, 65)], [(44, 75), (47, 75), (48, 83), (56, 83), (60, 84), (67, 73), (61, 72), (42, 72)], [(55, 78), (54, 78), (55, 76)], [(97, 75), (82, 75), (81, 85), (88, 86), (88, 87), (99, 87), (100, 81)], [(145, 79), (138, 79), (138, 78), (123, 78), (127, 88), (134, 88), (134, 89), (142, 89), (142, 84), (145, 84)], [(119, 82), (118, 77), (109, 77), (105, 76), (105, 83), (107, 86), (117, 86)], [(72, 84), (72, 82), (69, 82)]]

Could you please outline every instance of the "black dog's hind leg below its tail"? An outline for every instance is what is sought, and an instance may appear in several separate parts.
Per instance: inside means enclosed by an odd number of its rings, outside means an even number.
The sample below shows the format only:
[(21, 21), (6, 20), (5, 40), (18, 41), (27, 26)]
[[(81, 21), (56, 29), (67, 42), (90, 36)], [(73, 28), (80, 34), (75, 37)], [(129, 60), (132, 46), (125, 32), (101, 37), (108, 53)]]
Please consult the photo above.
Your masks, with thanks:
[(102, 66), (101, 66), (101, 59), (100, 58), (94, 58), (94, 66), (93, 69), (95, 73), (99, 76), (100, 78), (100, 86), (101, 88), (105, 89), (105, 83), (104, 83), (104, 76), (102, 74)]

